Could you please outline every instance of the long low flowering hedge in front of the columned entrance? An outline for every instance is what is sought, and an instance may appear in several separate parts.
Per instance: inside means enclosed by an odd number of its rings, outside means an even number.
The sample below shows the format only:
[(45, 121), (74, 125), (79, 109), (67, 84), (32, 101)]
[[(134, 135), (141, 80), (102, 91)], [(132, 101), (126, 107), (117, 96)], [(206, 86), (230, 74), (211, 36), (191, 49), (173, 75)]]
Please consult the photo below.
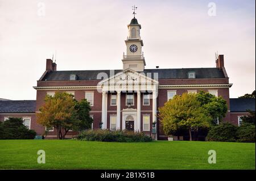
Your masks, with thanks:
[(76, 137), (81, 141), (106, 141), (106, 142), (149, 142), (152, 138), (142, 132), (109, 131), (97, 129), (82, 131)]

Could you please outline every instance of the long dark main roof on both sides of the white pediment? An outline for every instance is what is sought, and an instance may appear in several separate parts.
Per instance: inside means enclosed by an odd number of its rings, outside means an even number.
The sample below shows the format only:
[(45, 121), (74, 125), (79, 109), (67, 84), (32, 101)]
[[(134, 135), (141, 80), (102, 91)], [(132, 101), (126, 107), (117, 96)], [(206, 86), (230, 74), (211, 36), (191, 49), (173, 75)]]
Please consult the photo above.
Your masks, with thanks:
[[(113, 70), (112, 70), (113, 71)], [(122, 70), (114, 70), (114, 74)], [(225, 78), (221, 69), (218, 68), (188, 68), (188, 69), (145, 69), (148, 77), (152, 77), (154, 73), (158, 73), (158, 79), (187, 79), (189, 72), (195, 72), (196, 78)], [(66, 71), (49, 71), (42, 81), (68, 81), (71, 74), (77, 75), (77, 81), (97, 80), (97, 75), (103, 73), (110, 77), (110, 70), (66, 70)], [(147, 73), (151, 73), (147, 74)]]

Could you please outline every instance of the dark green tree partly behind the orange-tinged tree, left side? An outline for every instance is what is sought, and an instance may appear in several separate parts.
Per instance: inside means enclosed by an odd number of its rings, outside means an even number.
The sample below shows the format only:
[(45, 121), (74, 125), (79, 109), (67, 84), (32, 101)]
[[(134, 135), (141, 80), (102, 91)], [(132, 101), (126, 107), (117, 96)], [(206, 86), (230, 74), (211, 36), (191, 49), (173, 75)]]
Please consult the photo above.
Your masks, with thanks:
[(75, 128), (76, 131), (82, 131), (92, 128), (93, 119), (90, 117), (90, 103), (86, 99), (82, 99), (80, 102), (75, 100), (75, 110), (77, 111), (79, 125)]

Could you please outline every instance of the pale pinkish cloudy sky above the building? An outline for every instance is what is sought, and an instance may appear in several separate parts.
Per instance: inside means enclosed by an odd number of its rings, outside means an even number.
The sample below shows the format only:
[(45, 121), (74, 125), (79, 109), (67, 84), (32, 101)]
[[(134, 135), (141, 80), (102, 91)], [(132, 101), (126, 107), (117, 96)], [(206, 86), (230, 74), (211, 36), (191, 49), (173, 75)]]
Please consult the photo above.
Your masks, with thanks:
[(133, 5), (146, 69), (212, 68), (218, 52), (230, 98), (255, 90), (254, 0), (0, 0), (0, 98), (35, 100), (55, 51), (57, 70), (122, 69)]

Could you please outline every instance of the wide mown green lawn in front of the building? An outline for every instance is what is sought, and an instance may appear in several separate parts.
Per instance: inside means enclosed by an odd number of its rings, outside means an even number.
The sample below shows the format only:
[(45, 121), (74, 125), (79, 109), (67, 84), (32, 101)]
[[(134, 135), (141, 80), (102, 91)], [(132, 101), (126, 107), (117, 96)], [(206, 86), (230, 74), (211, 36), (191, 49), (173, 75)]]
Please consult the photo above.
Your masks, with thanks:
[[(37, 163), (38, 150), (46, 163)], [(216, 150), (217, 163), (208, 163)], [(0, 169), (255, 169), (255, 144), (0, 140)]]

